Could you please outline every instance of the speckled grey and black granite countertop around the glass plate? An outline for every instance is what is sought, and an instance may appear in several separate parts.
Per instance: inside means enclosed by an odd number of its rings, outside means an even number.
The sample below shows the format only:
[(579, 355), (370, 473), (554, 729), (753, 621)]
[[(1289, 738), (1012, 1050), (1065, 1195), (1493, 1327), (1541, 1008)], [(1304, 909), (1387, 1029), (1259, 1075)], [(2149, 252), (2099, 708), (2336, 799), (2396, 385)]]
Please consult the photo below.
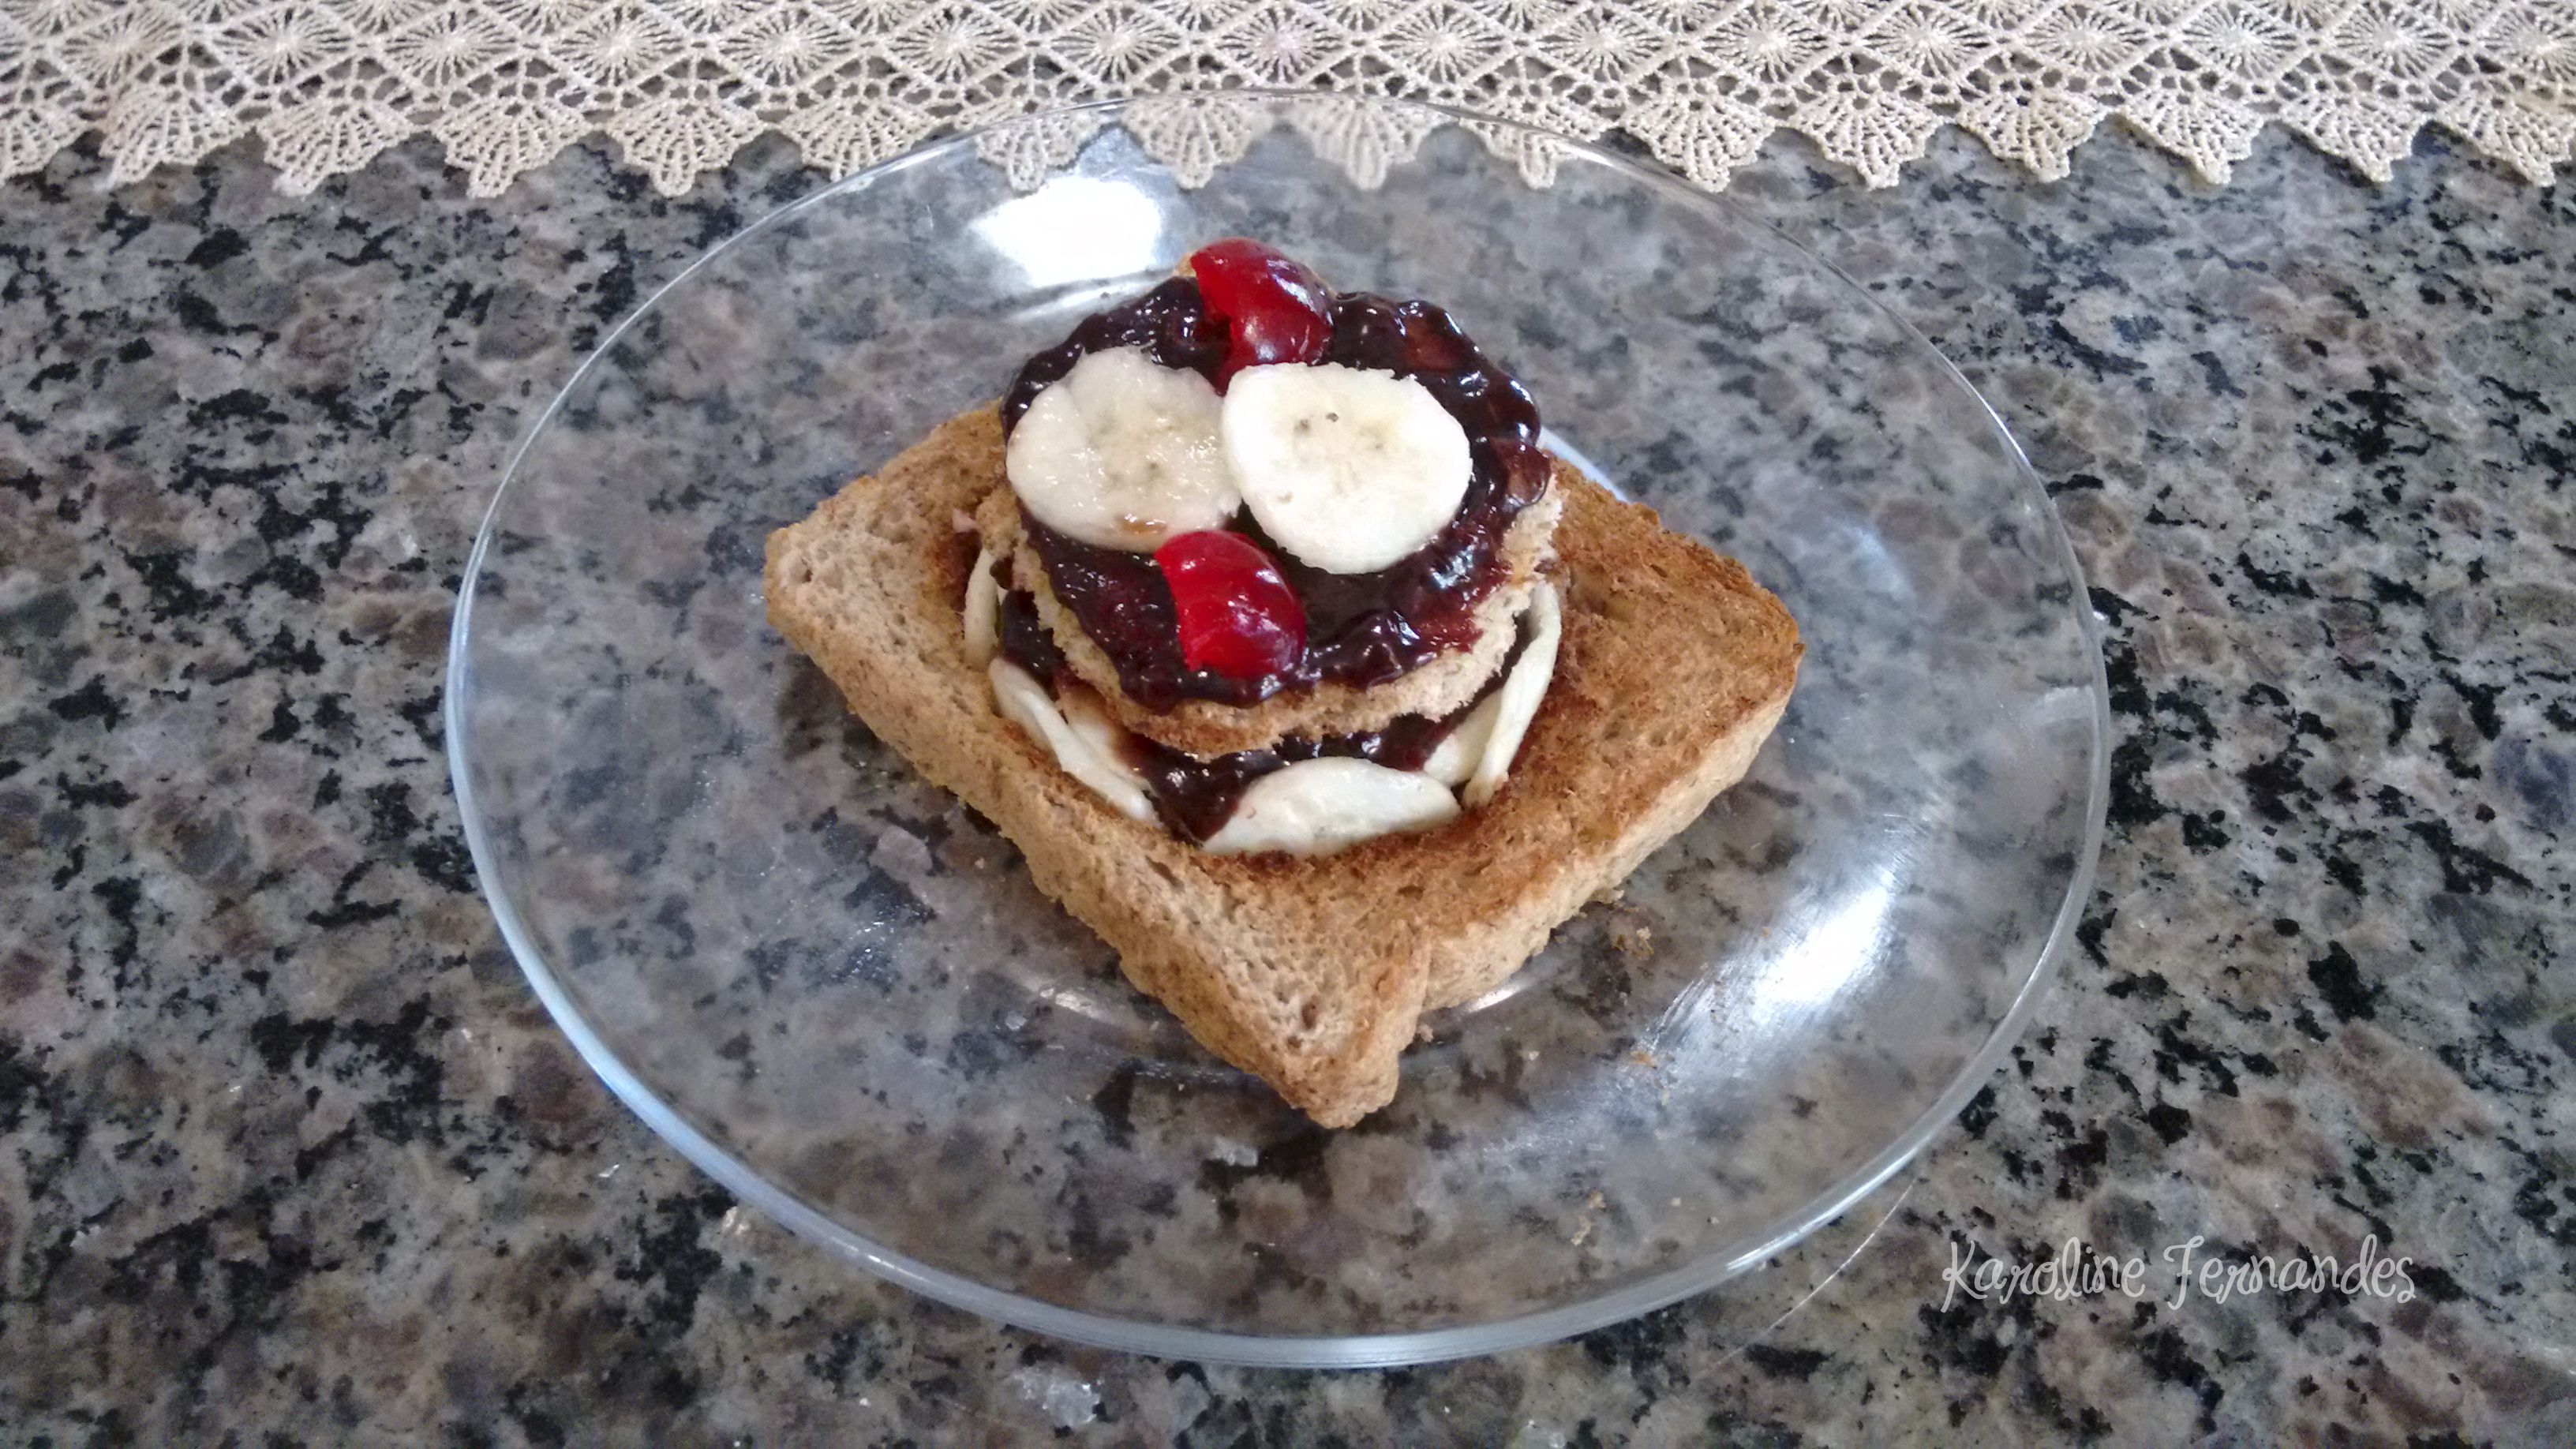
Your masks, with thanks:
[[(304, 199), (245, 150), (0, 183), (0, 1423), (2576, 1441), (2576, 191), (2419, 150), (2370, 188), (2269, 134), (2218, 191), (1950, 131), (1896, 191), (1798, 144), (1736, 183), (2056, 492), (2117, 712), (2081, 949), (1767, 1333), (1718, 1294), (1321, 1377), (992, 1328), (788, 1238), (587, 1075), (474, 892), (474, 523), (603, 327), (817, 183), (788, 147), (680, 201), (603, 144), (500, 201), (425, 144)], [(1945, 1302), (2069, 1238), (2370, 1240), (2411, 1297)]]

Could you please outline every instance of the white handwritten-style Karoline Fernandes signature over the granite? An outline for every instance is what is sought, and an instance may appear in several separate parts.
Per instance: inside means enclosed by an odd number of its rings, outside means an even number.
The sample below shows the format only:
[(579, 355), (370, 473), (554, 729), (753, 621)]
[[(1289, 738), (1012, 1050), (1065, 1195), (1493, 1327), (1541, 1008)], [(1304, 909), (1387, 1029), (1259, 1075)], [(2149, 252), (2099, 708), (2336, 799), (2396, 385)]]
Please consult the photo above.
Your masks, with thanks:
[[(2174, 1297), (2164, 1299), (2164, 1307), (2182, 1307), (2192, 1294), (2210, 1302), (2228, 1302), (2236, 1294), (2267, 1294), (2267, 1292), (2342, 1292), (2347, 1297), (2385, 1297), (2393, 1302), (2414, 1299), (2414, 1279), (2406, 1276), (2414, 1258), (2391, 1258), (2380, 1253), (2380, 1235), (2372, 1232), (2362, 1238), (2360, 1253), (2349, 1263), (2334, 1258), (2334, 1253), (2290, 1253), (2275, 1258), (2262, 1253), (2257, 1258), (2223, 1258), (2202, 1256), (2208, 1238), (2192, 1235), (2182, 1243), (2166, 1245), (2156, 1253), (2159, 1261), (2174, 1263)], [(1942, 1269), (1942, 1312), (1958, 1302), (1958, 1294), (1968, 1294), (1976, 1302), (2012, 1302), (2017, 1297), (2043, 1297), (2053, 1302), (2071, 1302), (2079, 1297), (2097, 1297), (2105, 1292), (2120, 1292), (2128, 1297), (2146, 1297), (2146, 1256), (2130, 1253), (2125, 1258), (2112, 1258), (2087, 1248), (2081, 1240), (2069, 1238), (2058, 1250), (2038, 1263), (2007, 1263), (2004, 1258), (1986, 1256), (1978, 1261), (1976, 1248), (1963, 1245), (1958, 1238), (1950, 1240), (1950, 1266)]]

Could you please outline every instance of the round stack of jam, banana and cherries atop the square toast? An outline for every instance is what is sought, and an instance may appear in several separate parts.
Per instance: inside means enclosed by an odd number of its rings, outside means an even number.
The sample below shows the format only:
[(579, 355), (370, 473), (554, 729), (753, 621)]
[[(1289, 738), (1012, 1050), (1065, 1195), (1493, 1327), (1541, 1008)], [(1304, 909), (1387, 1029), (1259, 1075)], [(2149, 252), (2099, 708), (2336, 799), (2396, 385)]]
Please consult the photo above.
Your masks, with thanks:
[(1030, 358), (1002, 428), (969, 652), (1115, 810), (1311, 856), (1502, 786), (1556, 665), (1561, 498), (1448, 312), (1216, 242)]

